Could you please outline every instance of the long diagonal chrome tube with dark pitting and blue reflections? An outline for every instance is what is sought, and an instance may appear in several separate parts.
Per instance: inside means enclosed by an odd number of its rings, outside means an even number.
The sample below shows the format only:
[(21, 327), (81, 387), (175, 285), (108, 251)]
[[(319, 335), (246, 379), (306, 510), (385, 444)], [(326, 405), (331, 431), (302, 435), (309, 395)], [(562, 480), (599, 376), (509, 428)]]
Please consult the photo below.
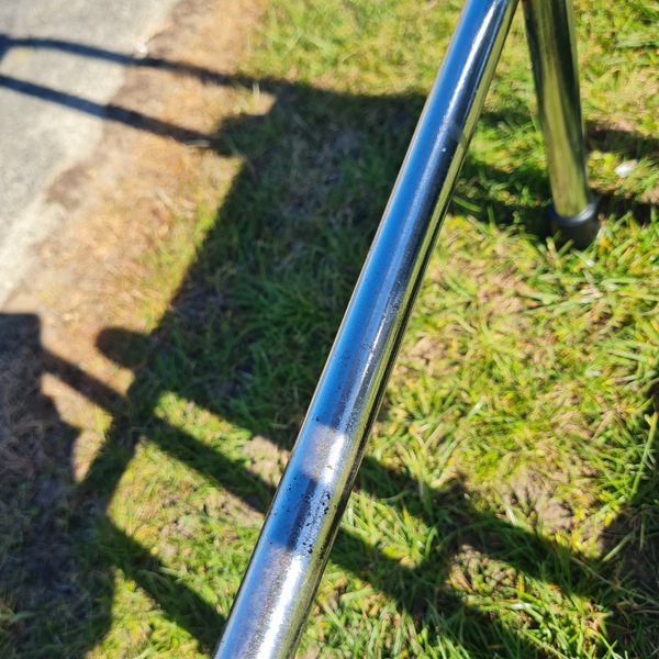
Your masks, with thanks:
[(295, 648), (517, 0), (467, 0), (215, 650)]

